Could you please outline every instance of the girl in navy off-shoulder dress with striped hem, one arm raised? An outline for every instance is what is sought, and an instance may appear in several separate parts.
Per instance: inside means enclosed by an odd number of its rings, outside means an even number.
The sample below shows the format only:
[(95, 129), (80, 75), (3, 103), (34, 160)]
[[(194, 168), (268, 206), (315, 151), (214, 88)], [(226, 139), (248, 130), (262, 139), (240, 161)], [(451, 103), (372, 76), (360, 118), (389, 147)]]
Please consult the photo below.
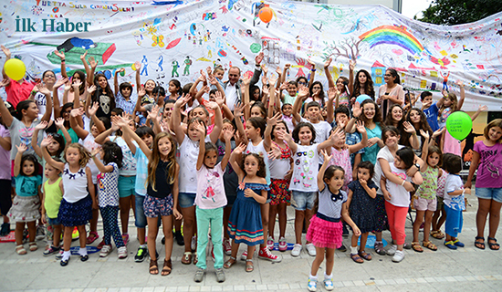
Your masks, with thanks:
[(239, 245), (246, 244), (246, 272), (253, 272), (255, 245), (264, 243), (260, 204), (267, 202), (269, 187), (265, 178), (267, 171), (263, 158), (256, 153), (244, 154), (241, 166), (236, 162), (236, 156), (241, 155), (243, 151), (246, 151), (246, 145), (241, 144), (230, 155), (230, 163), (239, 178), (239, 186), (227, 226), (228, 234), (233, 239), (232, 255), (224, 267), (235, 265)]

